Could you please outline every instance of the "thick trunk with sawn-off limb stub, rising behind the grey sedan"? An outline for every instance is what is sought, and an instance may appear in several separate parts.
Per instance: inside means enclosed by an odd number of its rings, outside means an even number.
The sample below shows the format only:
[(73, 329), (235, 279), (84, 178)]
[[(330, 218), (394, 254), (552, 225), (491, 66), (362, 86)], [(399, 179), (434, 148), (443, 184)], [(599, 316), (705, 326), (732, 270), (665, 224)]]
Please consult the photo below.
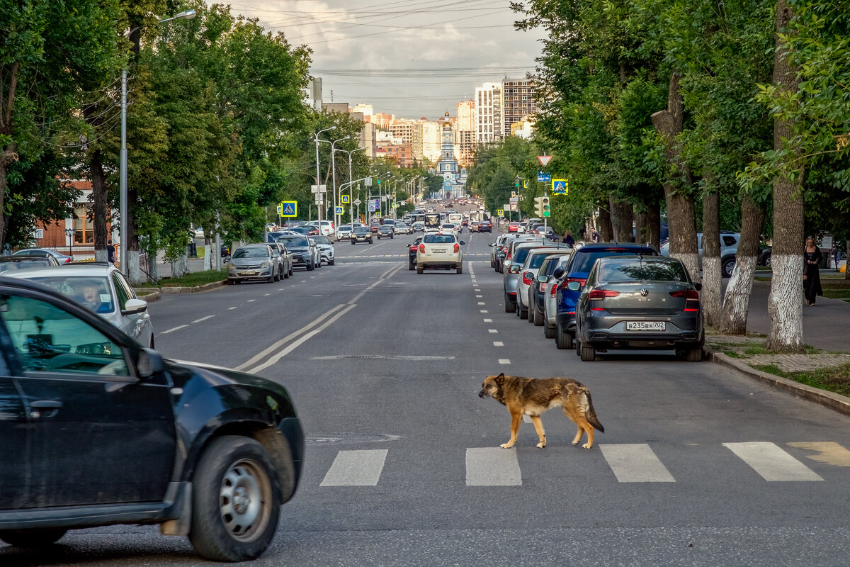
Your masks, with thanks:
[(664, 154), (670, 172), (664, 181), (664, 197), (667, 204), (667, 223), (670, 226), (670, 255), (682, 260), (694, 281), (700, 281), (700, 257), (697, 254), (696, 213), (694, 198), (685, 195), (689, 189), (690, 173), (686, 164), (680, 161), (682, 148), (677, 144), (676, 136), (682, 133), (684, 103), (679, 94), (679, 74), (670, 75), (670, 89), (667, 93), (667, 108), (651, 116), (655, 131), (665, 140)]

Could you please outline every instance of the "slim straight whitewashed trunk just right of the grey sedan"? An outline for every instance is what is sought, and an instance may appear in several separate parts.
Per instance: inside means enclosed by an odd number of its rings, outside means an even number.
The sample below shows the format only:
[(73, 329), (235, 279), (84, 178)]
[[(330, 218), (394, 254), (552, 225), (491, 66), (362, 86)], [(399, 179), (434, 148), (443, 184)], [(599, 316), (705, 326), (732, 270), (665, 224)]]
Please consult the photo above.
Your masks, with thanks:
[[(706, 180), (713, 180), (706, 174)], [(713, 184), (702, 195), (702, 312), (706, 326), (720, 326), (723, 307), (720, 285), (720, 194)]]

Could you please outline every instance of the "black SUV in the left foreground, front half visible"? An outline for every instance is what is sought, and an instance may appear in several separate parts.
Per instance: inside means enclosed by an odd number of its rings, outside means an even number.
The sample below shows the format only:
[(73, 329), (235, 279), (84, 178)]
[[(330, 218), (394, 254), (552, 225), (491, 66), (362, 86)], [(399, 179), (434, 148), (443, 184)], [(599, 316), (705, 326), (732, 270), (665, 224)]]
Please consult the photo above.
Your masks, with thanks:
[(161, 524), (217, 561), (257, 558), (301, 476), (286, 388), (163, 360), (81, 305), (0, 277), (0, 539)]

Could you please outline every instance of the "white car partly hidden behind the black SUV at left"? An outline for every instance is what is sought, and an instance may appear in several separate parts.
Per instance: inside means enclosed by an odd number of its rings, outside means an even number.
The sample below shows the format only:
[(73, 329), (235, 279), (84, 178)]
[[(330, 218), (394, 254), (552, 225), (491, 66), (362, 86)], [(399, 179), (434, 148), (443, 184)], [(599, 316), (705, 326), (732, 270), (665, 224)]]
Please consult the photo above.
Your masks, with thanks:
[(136, 297), (133, 287), (113, 264), (68, 264), (8, 271), (3, 275), (48, 286), (100, 315), (139, 344), (154, 348), (154, 326), (148, 315), (148, 303)]

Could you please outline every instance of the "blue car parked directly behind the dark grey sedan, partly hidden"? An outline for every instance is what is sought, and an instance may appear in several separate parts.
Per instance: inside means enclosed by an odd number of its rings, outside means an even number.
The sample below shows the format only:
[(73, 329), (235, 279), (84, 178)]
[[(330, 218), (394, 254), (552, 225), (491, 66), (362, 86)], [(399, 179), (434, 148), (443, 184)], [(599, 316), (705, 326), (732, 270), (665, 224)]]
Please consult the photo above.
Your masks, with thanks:
[(586, 244), (573, 252), (570, 263), (564, 268), (555, 271), (558, 278), (558, 291), (555, 292), (558, 304), (558, 316), (555, 323), (555, 345), (558, 349), (572, 349), (575, 345), (575, 303), (578, 303), (581, 288), (578, 291), (567, 289), (570, 281), (577, 281), (579, 286), (584, 286), (587, 275), (593, 264), (599, 258), (611, 256), (658, 256), (655, 248), (645, 244), (613, 244), (610, 242), (597, 242)]

